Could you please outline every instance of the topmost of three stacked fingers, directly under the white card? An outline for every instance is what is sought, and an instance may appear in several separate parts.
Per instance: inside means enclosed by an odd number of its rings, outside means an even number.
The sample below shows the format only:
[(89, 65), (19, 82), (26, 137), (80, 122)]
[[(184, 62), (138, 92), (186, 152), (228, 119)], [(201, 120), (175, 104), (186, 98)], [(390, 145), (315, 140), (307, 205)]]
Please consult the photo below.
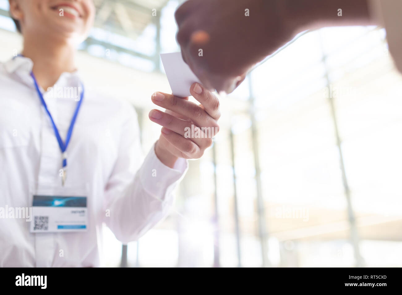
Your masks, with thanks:
[(171, 94), (158, 92), (152, 96), (152, 102), (157, 106), (189, 118), (197, 126), (219, 128), (215, 119), (209, 116), (200, 106), (188, 100), (183, 100)]

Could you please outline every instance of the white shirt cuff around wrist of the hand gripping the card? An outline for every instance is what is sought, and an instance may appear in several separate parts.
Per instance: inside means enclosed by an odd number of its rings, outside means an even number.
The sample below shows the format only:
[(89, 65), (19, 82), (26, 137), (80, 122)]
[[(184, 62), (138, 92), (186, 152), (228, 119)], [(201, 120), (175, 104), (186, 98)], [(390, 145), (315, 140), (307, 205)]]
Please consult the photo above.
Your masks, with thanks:
[(189, 163), (183, 158), (178, 158), (173, 168), (164, 165), (155, 154), (154, 144), (144, 159), (139, 171), (139, 177), (148, 193), (164, 200), (184, 177), (188, 168)]

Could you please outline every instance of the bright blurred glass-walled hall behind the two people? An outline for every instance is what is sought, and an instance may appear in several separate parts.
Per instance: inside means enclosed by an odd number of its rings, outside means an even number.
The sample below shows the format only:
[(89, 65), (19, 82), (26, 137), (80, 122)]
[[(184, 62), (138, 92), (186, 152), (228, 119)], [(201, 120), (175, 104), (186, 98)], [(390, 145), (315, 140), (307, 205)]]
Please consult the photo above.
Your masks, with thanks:
[[(80, 45), (86, 87), (135, 108), (147, 153), (170, 93), (159, 53), (179, 51), (178, 0), (94, 0)], [(22, 48), (0, 0), (0, 61)], [(107, 267), (402, 267), (402, 76), (374, 26), (299, 37), (220, 99), (221, 131), (176, 189), (170, 215)]]

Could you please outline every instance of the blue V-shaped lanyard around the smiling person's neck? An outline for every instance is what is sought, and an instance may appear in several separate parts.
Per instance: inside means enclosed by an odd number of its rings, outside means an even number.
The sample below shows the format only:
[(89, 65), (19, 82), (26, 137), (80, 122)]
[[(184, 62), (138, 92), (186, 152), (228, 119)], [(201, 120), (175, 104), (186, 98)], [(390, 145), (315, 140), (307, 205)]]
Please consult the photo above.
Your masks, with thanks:
[(60, 137), (59, 130), (57, 129), (56, 124), (53, 121), (53, 117), (51, 116), (49, 110), (47, 109), (46, 102), (43, 99), (43, 95), (42, 95), (41, 91), (39, 90), (39, 86), (38, 86), (38, 83), (36, 81), (36, 78), (35, 78), (35, 75), (33, 74), (33, 72), (31, 72), (31, 77), (33, 78), (33, 82), (35, 83), (35, 88), (36, 88), (36, 91), (38, 92), (39, 99), (41, 100), (41, 102), (43, 104), (43, 107), (45, 108), (45, 111), (49, 115), (51, 124), (53, 126), (54, 133), (56, 135), (57, 141), (59, 142), (59, 147), (60, 147), (60, 150), (62, 151), (62, 157), (63, 157), (62, 165), (63, 165), (63, 168), (64, 168), (64, 167), (67, 166), (67, 156), (66, 156), (67, 146), (68, 146), (68, 144), (70, 142), (71, 134), (73, 132), (74, 124), (75, 124), (75, 121), (77, 119), (78, 111), (80, 110), (80, 106), (82, 104), (82, 99), (84, 98), (84, 86), (81, 84), (81, 87), (82, 87), (81, 98), (77, 102), (76, 110), (75, 110), (73, 118), (71, 120), (70, 127), (68, 128), (68, 132), (67, 132), (67, 136), (66, 136), (66, 142), (63, 142), (62, 138)]

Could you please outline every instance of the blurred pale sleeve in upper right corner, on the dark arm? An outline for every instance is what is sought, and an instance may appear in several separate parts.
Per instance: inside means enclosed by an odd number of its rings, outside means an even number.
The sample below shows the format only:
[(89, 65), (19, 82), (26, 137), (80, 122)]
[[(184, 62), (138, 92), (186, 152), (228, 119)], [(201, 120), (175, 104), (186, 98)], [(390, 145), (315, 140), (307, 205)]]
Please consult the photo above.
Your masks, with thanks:
[(402, 0), (370, 0), (370, 14), (387, 32), (388, 49), (402, 73)]

